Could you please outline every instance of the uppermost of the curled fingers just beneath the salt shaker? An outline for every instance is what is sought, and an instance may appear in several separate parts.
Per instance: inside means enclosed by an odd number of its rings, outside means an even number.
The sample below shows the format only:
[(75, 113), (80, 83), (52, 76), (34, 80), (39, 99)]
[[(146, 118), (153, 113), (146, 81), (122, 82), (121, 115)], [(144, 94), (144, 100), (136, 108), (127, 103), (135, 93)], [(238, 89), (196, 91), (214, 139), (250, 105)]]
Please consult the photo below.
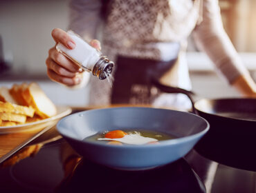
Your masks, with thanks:
[(58, 52), (55, 47), (51, 48), (49, 50), (49, 57), (55, 61), (58, 65), (60, 65), (62, 68), (65, 68), (66, 70), (70, 72), (82, 72), (82, 68), (80, 68), (78, 65), (73, 63), (71, 60), (69, 60), (67, 57), (65, 57), (63, 54)]

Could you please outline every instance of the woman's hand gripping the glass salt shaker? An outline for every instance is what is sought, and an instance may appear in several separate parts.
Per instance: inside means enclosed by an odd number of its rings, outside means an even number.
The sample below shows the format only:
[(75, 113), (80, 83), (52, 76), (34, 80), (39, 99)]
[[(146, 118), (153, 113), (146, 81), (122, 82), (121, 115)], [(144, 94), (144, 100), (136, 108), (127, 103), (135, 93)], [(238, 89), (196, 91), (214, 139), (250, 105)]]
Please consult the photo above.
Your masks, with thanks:
[[(56, 42), (55, 45), (62, 43), (68, 49), (75, 48), (75, 41), (64, 30), (55, 28), (51, 34)], [(100, 41), (93, 39), (90, 44), (100, 50)], [(55, 46), (48, 51), (46, 65), (48, 77), (53, 81), (69, 86), (78, 85), (82, 81), (82, 68), (58, 52)]]

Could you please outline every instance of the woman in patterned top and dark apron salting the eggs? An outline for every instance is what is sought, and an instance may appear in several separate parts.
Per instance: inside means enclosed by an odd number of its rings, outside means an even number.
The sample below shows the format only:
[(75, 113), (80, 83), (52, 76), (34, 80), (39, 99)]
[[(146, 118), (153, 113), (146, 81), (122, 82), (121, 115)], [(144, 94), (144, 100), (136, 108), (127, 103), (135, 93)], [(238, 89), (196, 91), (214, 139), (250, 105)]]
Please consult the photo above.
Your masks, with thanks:
[[(188, 108), (186, 96), (162, 94), (150, 82), (158, 79), (167, 85), (191, 89), (185, 61), (191, 32), (200, 50), (208, 54), (230, 85), (244, 96), (256, 96), (256, 85), (223, 30), (217, 0), (74, 0), (70, 8), (69, 28), (88, 42), (100, 30), (102, 52), (116, 62), (112, 89), (107, 81), (91, 77), (91, 105), (150, 103)], [(75, 48), (66, 32), (54, 29), (52, 36), (56, 43)], [(91, 45), (100, 49), (97, 40)], [(55, 47), (49, 50), (46, 65), (53, 81), (81, 85), (80, 69)], [(84, 79), (88, 76), (84, 73)]]

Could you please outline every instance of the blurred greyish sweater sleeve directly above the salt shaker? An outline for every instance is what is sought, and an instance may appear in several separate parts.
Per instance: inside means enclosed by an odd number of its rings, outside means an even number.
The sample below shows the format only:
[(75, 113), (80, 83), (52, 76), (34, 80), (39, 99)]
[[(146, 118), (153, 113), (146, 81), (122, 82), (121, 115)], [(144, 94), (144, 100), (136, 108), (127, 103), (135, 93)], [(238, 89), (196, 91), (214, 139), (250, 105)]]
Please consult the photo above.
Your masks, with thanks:
[(100, 25), (100, 0), (71, 0), (69, 4), (69, 30), (80, 34), (86, 41), (95, 39)]

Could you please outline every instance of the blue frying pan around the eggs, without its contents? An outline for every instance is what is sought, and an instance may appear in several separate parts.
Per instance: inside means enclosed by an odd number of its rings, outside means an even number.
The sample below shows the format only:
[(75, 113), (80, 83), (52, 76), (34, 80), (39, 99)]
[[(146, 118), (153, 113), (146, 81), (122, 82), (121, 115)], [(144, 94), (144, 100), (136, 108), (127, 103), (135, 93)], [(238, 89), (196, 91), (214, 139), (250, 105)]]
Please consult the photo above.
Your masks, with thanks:
[[(165, 132), (177, 138), (145, 145), (109, 145), (84, 140), (98, 132), (124, 129)], [(85, 159), (121, 170), (145, 170), (172, 163), (187, 154), (209, 130), (209, 124), (188, 112), (131, 107), (71, 114), (57, 123), (57, 130)]]

